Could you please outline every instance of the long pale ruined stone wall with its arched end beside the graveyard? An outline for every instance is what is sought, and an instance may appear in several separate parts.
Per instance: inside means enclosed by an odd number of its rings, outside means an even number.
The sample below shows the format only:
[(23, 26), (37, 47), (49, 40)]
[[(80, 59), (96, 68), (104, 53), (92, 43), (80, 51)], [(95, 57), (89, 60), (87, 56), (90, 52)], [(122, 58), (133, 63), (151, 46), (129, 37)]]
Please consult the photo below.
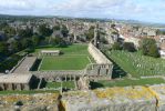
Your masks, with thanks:
[[(86, 73), (95, 79), (111, 79), (113, 71), (113, 63), (92, 43), (89, 43), (89, 52), (96, 63), (86, 67)], [(91, 79), (90, 78), (90, 79)], [(95, 80), (94, 79), (94, 80)]]

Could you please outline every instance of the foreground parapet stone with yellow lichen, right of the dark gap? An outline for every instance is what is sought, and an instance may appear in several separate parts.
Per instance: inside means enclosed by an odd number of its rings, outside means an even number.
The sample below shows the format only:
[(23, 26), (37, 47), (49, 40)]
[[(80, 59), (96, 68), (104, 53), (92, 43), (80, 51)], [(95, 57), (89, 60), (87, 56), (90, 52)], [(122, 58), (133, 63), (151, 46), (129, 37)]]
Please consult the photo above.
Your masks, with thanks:
[(165, 84), (66, 92), (65, 111), (165, 111)]

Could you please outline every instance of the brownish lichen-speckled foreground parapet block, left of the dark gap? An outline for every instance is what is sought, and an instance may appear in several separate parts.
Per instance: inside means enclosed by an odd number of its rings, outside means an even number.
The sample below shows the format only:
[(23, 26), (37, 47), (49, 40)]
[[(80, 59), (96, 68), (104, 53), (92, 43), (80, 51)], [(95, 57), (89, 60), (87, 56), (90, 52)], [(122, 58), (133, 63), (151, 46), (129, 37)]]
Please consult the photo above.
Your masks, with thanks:
[(0, 111), (59, 111), (58, 98), (58, 93), (0, 95)]

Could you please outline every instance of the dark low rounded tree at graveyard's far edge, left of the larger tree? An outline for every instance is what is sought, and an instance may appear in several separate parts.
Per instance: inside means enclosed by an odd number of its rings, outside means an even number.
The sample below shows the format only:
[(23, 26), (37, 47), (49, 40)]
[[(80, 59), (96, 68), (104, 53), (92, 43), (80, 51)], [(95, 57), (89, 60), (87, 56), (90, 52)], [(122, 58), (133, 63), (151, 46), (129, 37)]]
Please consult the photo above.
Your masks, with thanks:
[(133, 42), (124, 42), (123, 49), (130, 52), (136, 51), (135, 46)]

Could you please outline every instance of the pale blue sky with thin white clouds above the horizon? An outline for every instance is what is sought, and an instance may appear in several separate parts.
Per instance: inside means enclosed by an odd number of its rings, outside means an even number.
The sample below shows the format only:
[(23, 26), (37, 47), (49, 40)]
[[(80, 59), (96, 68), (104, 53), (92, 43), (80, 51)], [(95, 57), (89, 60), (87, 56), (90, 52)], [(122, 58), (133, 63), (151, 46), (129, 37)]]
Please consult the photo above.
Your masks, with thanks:
[(0, 0), (0, 13), (165, 23), (165, 0)]

